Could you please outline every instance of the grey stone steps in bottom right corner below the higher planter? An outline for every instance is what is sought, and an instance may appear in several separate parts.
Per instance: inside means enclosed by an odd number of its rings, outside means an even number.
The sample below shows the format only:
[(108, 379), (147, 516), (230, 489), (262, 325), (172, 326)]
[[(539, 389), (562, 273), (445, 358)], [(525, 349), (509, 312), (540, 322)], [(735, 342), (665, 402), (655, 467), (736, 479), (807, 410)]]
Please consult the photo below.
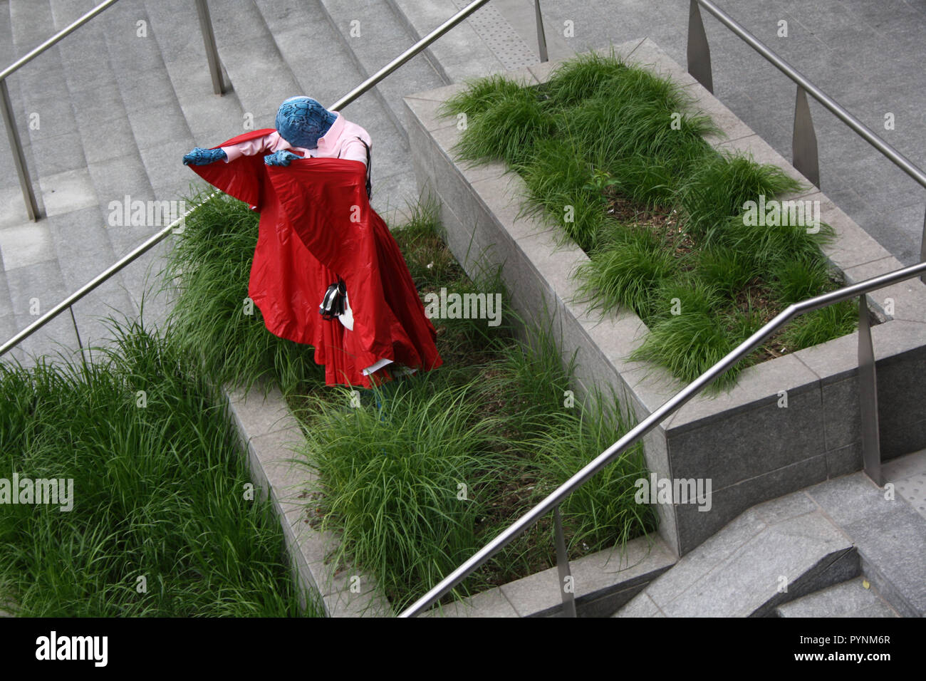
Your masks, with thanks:
[(922, 617), (926, 451), (758, 504), (615, 617)]

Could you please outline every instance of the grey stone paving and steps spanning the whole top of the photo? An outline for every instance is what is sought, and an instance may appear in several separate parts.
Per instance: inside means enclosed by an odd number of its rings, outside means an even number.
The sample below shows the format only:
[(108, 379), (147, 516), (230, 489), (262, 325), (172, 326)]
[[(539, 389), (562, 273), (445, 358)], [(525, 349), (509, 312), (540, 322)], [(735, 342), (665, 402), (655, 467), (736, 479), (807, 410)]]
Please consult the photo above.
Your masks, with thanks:
[[(94, 0), (0, 0), (0, 63), (7, 64), (80, 16)], [(210, 3), (219, 54), (234, 90), (211, 94), (194, 4), (122, 0), (9, 80), (44, 217), (26, 220), (6, 142), (0, 143), (0, 338), (89, 281), (157, 231), (107, 224), (112, 202), (172, 200), (193, 173), (194, 145), (214, 145), (245, 125), (271, 126), (294, 93), (330, 103), (466, 0), (236, 0)], [(920, 166), (926, 166), (926, 0), (720, 0), (758, 38)], [(648, 35), (685, 63), (686, 0), (543, 3), (553, 58)], [(788, 37), (778, 37), (780, 21)], [(715, 94), (790, 158), (794, 86), (705, 18)], [(532, 0), (495, 0), (466, 24), (349, 107), (373, 135), (374, 207), (387, 219), (415, 198), (401, 95), (535, 63)], [(319, 67), (320, 65), (320, 67)], [(323, 69), (319, 76), (319, 68)], [(919, 256), (926, 192), (815, 103), (822, 188), (897, 259)], [(895, 130), (883, 128), (893, 113)], [(37, 116), (36, 116), (37, 115)], [(169, 242), (75, 306), (86, 342), (96, 317), (134, 315), (157, 284)], [(159, 322), (162, 296), (145, 300)], [(118, 314), (117, 314), (118, 316)], [(23, 344), (74, 348), (69, 315)], [(23, 358), (22, 349), (16, 356)]]

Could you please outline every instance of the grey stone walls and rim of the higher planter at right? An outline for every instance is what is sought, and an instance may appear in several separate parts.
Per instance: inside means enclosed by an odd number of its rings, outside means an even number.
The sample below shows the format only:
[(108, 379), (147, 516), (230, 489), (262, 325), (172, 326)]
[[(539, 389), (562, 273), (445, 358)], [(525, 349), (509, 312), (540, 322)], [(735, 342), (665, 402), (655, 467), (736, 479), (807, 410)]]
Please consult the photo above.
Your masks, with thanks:
[[(803, 178), (743, 121), (710, 95), (657, 45), (634, 40), (615, 46), (631, 63), (655, 69), (694, 96), (726, 137), (708, 138), (718, 148), (749, 152), (796, 179)], [(503, 75), (539, 84), (555, 63)], [(465, 269), (478, 259), (504, 264), (512, 304), (528, 316), (555, 311), (565, 355), (576, 352), (584, 390), (613, 385), (638, 419), (682, 388), (667, 372), (629, 355), (647, 329), (630, 310), (604, 318), (576, 302), (573, 272), (588, 262), (574, 245), (557, 246), (557, 231), (519, 217), (526, 190), (501, 163), (473, 168), (457, 162), (457, 120), (438, 107), (464, 87), (449, 85), (406, 97), (409, 140), (419, 189), (439, 199), (447, 243)], [(820, 219), (837, 236), (823, 251), (856, 283), (901, 267), (822, 192), (813, 187), (785, 199), (820, 201)], [(884, 322), (872, 329), (878, 368), (882, 458), (926, 447), (926, 287), (897, 284), (870, 296)], [(892, 314), (889, 314), (893, 312)], [(698, 546), (745, 509), (822, 480), (861, 469), (857, 398), (857, 333), (771, 359), (742, 372), (719, 397), (695, 397), (644, 439), (646, 462), (658, 478), (707, 478), (710, 511), (697, 504), (657, 504), (660, 535), (681, 555)], [(787, 407), (780, 407), (786, 392)]]

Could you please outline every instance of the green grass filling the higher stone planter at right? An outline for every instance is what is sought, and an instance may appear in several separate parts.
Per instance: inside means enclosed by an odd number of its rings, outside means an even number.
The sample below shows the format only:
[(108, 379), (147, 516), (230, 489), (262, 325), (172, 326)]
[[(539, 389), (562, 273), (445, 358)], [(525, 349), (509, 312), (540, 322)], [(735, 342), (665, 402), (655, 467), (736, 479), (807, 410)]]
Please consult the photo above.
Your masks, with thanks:
[[(782, 199), (804, 185), (778, 166), (708, 144), (720, 129), (677, 83), (612, 51), (570, 59), (522, 95), (516, 85), (494, 76), (456, 95), (457, 108), (470, 102), (471, 112), (459, 149), (474, 161), (509, 159), (527, 189), (522, 212), (544, 216), (588, 255), (574, 273), (579, 298), (602, 313), (627, 306), (649, 327), (635, 358), (692, 380), (787, 305), (839, 285), (821, 251), (832, 227), (810, 202)], [(530, 126), (520, 149), (508, 145), (518, 135), (501, 129), (505, 144), (492, 146), (504, 153), (483, 153), (482, 124), (517, 113), (512, 101), (544, 124)], [(524, 127), (521, 118), (514, 117), (516, 127)], [(669, 306), (673, 284), (678, 295)], [(731, 385), (733, 373), (759, 359), (853, 328), (837, 311), (809, 314), (793, 327), (716, 385)]]

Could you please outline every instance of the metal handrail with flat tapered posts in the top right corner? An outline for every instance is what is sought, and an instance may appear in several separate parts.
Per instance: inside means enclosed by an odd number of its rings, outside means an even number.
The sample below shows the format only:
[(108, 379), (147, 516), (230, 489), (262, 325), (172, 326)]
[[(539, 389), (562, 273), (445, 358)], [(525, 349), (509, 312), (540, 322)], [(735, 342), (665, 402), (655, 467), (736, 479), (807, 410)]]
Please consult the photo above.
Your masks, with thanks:
[[(849, 128), (862, 139), (888, 158), (897, 168), (907, 173), (913, 180), (926, 187), (926, 170), (921, 169), (909, 158), (905, 157), (894, 146), (889, 145), (875, 134), (861, 120), (845, 110), (830, 95), (808, 81), (807, 78), (776, 55), (770, 48), (757, 39), (755, 35), (745, 30), (742, 24), (720, 9), (711, 0), (690, 0), (688, 19), (688, 72), (713, 93), (713, 78), (710, 67), (710, 48), (707, 44), (707, 35), (704, 32), (704, 23), (701, 21), (699, 6), (703, 6), (726, 26), (737, 37), (765, 57), (772, 65), (782, 71), (784, 75), (797, 84), (797, 99), (795, 102), (795, 131), (794, 131), (794, 164), (816, 186), (820, 186), (820, 168), (817, 152), (817, 137), (810, 120), (810, 109), (807, 107), (807, 94), (810, 94), (826, 107), (836, 118), (842, 120)], [(923, 217), (923, 233), (920, 241), (920, 260), (926, 260), (926, 212)], [(926, 276), (923, 277), (926, 282)]]

